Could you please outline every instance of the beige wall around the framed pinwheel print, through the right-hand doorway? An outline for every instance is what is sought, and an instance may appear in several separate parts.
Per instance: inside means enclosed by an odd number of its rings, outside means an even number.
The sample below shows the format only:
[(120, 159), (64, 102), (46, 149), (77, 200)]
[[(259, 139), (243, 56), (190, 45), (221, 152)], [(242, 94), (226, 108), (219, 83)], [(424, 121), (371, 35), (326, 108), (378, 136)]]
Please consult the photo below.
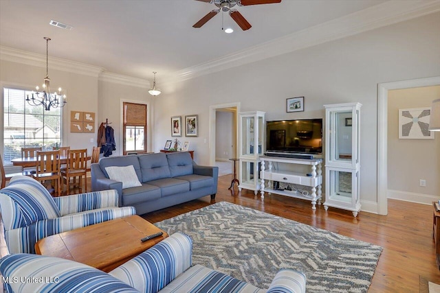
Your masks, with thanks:
[[(430, 107), (440, 86), (388, 91), (388, 197), (431, 203), (440, 197), (440, 133), (399, 139), (399, 109)], [(426, 180), (426, 187), (419, 180)]]

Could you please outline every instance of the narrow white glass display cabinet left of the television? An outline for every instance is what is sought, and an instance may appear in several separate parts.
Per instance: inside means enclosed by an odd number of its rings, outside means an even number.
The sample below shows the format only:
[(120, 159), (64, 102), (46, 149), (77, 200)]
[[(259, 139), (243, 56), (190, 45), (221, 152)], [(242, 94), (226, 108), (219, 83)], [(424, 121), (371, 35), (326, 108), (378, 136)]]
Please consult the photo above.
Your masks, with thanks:
[(261, 111), (239, 113), (239, 191), (253, 190), (258, 194), (260, 156), (265, 149), (265, 113)]

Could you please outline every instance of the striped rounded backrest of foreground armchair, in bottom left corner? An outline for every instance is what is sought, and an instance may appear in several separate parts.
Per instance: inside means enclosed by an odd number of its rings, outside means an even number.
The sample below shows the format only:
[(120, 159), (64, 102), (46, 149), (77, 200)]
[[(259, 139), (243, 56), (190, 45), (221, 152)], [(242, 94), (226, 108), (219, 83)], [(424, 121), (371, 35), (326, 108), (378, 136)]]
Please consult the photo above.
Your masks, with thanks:
[[(6, 292), (139, 292), (101, 270), (58, 257), (6, 255), (0, 272), (10, 280)], [(23, 277), (30, 281), (20, 281)]]

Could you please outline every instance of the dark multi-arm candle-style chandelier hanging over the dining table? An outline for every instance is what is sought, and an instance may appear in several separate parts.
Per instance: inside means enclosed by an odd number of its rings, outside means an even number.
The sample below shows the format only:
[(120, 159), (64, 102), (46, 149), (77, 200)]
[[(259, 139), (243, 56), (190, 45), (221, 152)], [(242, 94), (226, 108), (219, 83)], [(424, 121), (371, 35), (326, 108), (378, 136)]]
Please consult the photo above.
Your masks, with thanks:
[(44, 37), (46, 40), (46, 77), (44, 79), (43, 91), (39, 92), (39, 86), (36, 86), (36, 92), (32, 92), (32, 97), (29, 95), (26, 98), (28, 104), (31, 106), (43, 106), (46, 111), (49, 111), (50, 108), (58, 108), (63, 107), (66, 102), (66, 95), (61, 93), (61, 88), (58, 88), (58, 93), (55, 91), (54, 93), (50, 93), (50, 78), (49, 78), (49, 41), (51, 40), (47, 36)]

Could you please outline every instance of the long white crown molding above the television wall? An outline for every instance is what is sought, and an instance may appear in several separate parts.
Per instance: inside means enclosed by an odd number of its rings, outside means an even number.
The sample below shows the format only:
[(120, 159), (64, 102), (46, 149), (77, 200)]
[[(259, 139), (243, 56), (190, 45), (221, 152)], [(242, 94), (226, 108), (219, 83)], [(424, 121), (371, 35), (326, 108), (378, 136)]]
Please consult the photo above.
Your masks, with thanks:
[[(182, 82), (440, 11), (440, 0), (391, 0), (168, 75)], [(167, 83), (168, 83), (167, 82)]]

